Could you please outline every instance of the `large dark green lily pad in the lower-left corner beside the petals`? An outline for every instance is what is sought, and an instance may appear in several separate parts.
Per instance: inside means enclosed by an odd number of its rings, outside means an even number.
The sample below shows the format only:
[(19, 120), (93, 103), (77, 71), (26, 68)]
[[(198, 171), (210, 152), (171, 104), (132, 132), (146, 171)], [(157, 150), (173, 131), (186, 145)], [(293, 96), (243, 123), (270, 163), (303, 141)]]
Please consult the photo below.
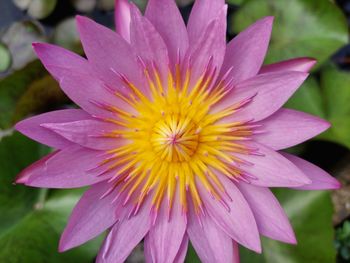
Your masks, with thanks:
[(48, 192), (12, 184), (39, 158), (41, 147), (18, 133), (0, 142), (0, 262), (91, 262), (100, 239), (58, 252), (60, 234), (83, 189)]

